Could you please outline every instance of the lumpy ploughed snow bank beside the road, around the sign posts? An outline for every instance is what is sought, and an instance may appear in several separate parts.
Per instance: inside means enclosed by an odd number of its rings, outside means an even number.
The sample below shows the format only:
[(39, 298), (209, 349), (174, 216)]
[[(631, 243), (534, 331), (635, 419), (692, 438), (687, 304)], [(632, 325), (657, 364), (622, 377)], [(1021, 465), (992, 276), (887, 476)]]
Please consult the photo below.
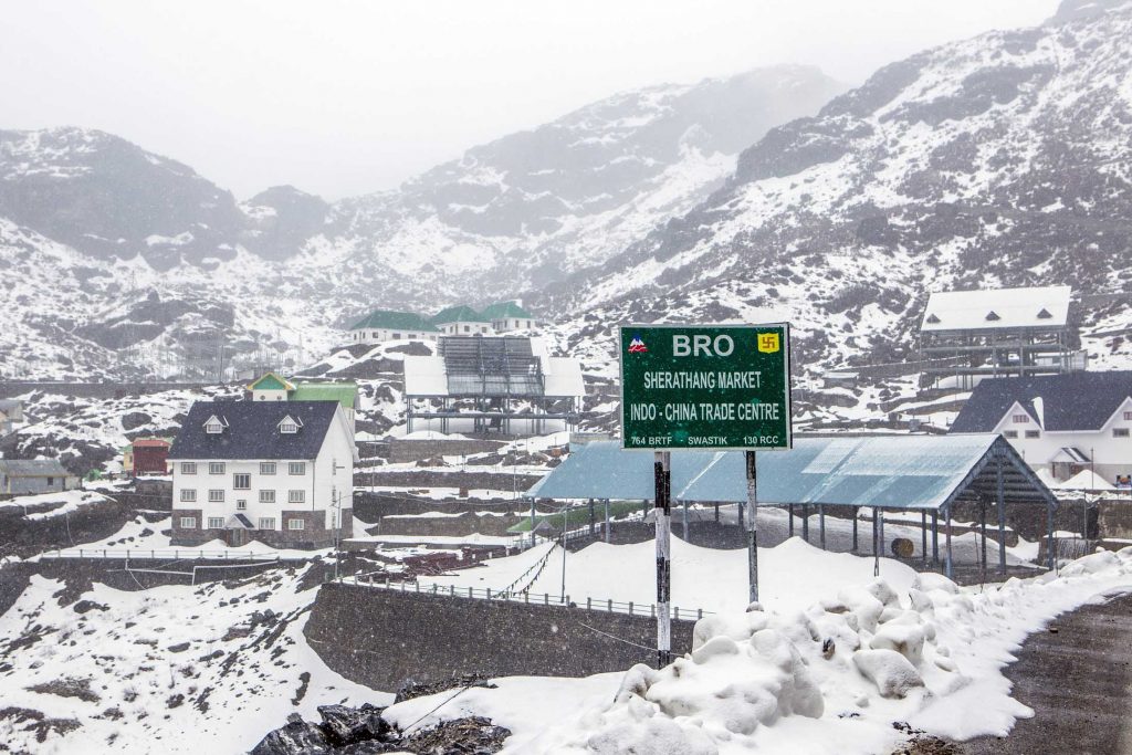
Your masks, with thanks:
[[(872, 580), (861, 574), (868, 559), (795, 541), (767, 556), (764, 604), (744, 611), (727, 601), (724, 614), (697, 624), (693, 652), (660, 671), (637, 666), (619, 685), (618, 675), (499, 679), (497, 689), (406, 701), (386, 717), (429, 726), (489, 715), (514, 731), (508, 753), (865, 755), (899, 745), (897, 721), (954, 739), (1001, 736), (1032, 714), (1003, 676), (1026, 636), (1132, 591), (1132, 548), (968, 589), (887, 564)], [(770, 576), (780, 570), (788, 575)], [(620, 569), (604, 575), (612, 582)]]

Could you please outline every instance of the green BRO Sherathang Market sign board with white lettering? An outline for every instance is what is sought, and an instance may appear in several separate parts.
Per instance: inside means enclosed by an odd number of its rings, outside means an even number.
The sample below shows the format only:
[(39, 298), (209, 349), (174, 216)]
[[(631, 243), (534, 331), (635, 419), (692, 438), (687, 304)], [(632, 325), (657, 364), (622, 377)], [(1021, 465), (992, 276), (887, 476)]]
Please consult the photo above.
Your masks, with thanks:
[(621, 445), (789, 448), (790, 326), (620, 327)]

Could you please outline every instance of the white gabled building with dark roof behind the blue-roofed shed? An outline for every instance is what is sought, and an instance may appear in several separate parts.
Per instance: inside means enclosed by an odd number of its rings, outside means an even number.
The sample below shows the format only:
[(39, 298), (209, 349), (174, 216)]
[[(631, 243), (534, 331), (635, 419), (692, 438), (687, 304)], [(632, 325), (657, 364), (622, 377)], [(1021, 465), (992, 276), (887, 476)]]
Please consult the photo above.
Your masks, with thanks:
[(1132, 371), (983, 380), (951, 431), (998, 432), (1058, 480), (1091, 470), (1114, 483), (1132, 474)]

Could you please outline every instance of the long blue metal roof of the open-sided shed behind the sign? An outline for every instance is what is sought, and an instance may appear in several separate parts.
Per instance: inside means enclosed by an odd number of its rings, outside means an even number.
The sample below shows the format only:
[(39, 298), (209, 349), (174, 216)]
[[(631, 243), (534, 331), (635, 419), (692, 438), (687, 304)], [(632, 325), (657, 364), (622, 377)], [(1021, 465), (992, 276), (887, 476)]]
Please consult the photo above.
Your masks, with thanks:
[[(791, 451), (757, 455), (758, 504), (937, 509), (974, 483), (993, 448), (1011, 466), (1012, 486), (1026, 484), (1027, 497), (1049, 500), (1049, 491), (1010, 445), (985, 434), (796, 437)], [(623, 451), (618, 441), (594, 441), (573, 451), (526, 495), (652, 499), (652, 455)], [(672, 454), (674, 500), (743, 503), (746, 498), (741, 452)]]

